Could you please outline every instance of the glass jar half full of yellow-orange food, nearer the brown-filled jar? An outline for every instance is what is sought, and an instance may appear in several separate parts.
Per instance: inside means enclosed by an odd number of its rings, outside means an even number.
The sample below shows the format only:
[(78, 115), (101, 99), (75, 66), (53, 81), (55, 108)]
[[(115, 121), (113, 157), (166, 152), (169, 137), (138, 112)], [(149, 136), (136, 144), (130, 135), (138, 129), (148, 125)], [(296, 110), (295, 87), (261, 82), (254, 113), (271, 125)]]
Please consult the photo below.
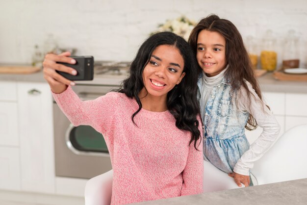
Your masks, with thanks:
[(277, 65), (276, 39), (272, 30), (267, 30), (262, 39), (262, 50), (260, 53), (261, 68), (267, 71), (274, 71)]

